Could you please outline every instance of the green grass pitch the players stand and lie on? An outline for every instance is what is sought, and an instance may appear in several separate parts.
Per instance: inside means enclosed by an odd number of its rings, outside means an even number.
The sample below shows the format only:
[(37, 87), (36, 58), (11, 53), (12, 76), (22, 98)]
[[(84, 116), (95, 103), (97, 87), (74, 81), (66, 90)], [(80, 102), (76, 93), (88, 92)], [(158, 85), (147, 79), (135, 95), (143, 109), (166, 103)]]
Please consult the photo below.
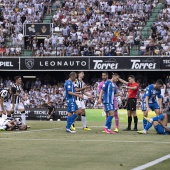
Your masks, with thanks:
[[(126, 111), (119, 113), (123, 129)], [(0, 132), (0, 170), (130, 170), (170, 153), (170, 136), (153, 128), (147, 135), (122, 130), (110, 135), (102, 133), (104, 122), (102, 110), (87, 110), (91, 131), (83, 131), (81, 122), (76, 134), (68, 134), (66, 122), (27, 121), (28, 131)], [(170, 160), (148, 169), (169, 170)]]

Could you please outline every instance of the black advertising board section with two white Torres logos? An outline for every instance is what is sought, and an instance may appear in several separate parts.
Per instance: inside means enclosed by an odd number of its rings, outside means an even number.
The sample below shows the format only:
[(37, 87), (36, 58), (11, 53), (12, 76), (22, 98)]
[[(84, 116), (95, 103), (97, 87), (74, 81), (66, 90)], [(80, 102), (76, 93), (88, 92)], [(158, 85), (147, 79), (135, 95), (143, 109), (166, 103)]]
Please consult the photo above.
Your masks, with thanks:
[(90, 58), (90, 70), (157, 70), (158, 57), (101, 57)]

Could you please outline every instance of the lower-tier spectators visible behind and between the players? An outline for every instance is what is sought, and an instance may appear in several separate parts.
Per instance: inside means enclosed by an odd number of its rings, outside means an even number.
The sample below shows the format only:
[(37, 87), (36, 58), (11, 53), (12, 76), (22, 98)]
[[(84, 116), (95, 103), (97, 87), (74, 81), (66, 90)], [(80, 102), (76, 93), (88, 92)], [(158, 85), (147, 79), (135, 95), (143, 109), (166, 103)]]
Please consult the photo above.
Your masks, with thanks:
[[(6, 80), (0, 80), (0, 88), (10, 88), (13, 83), (9, 78)], [(101, 79), (93, 79), (90, 87), (87, 89), (87, 93), (92, 94), (93, 98), (88, 98), (84, 96), (86, 103), (86, 108), (103, 108), (103, 104), (98, 104), (98, 85)], [(147, 80), (137, 81), (140, 84), (140, 90), (137, 96), (137, 108), (141, 109), (142, 96), (145, 92), (145, 88), (148, 83)], [(44, 108), (48, 106), (49, 102), (52, 102), (55, 108), (66, 108), (67, 104), (65, 101), (64, 93), (64, 82), (56, 83), (55, 85), (50, 85), (46, 83), (45, 85), (37, 78), (36, 81), (26, 81), (23, 86), (22, 95), (25, 96), (26, 100), (23, 101), (26, 108)], [(127, 91), (122, 88), (122, 84), (118, 84), (118, 103), (119, 108), (126, 108)], [(161, 90), (163, 96), (163, 106), (164, 110), (170, 109), (170, 79), (167, 79), (166, 85)]]

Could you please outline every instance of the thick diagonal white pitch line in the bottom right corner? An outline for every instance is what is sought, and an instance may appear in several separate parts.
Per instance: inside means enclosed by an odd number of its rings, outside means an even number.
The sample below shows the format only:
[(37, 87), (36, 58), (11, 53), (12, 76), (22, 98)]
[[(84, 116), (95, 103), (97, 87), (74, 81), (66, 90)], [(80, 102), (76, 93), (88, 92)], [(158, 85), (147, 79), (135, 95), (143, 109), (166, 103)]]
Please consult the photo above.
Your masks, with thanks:
[(159, 158), (159, 159), (156, 159), (156, 160), (154, 160), (154, 161), (152, 161), (152, 162), (149, 162), (149, 163), (147, 163), (147, 164), (144, 164), (144, 165), (138, 166), (138, 167), (136, 167), (136, 168), (133, 168), (133, 169), (131, 169), (131, 170), (143, 170), (143, 169), (149, 168), (149, 167), (151, 167), (151, 166), (153, 166), (153, 165), (156, 165), (156, 164), (158, 164), (158, 163), (160, 163), (160, 162), (162, 162), (162, 161), (165, 161), (165, 160), (167, 160), (167, 159), (170, 159), (170, 154), (168, 154), (168, 155), (166, 155), (166, 156), (163, 156), (163, 157), (161, 157), (161, 158)]

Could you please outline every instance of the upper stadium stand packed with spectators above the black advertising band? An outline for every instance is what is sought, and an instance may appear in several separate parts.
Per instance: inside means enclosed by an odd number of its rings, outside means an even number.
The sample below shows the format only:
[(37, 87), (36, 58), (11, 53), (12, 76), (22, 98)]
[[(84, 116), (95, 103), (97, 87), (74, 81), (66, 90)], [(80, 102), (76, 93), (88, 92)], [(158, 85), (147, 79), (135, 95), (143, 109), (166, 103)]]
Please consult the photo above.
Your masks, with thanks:
[[(168, 1), (163, 3), (158, 0), (1, 1), (0, 54), (28, 57), (167, 54), (166, 44), (161, 52), (146, 47), (155, 43), (150, 35), (151, 25), (156, 22), (157, 26), (162, 15), (168, 21), (165, 14)], [(53, 33), (41, 39), (23, 37), (25, 23), (53, 23)]]

